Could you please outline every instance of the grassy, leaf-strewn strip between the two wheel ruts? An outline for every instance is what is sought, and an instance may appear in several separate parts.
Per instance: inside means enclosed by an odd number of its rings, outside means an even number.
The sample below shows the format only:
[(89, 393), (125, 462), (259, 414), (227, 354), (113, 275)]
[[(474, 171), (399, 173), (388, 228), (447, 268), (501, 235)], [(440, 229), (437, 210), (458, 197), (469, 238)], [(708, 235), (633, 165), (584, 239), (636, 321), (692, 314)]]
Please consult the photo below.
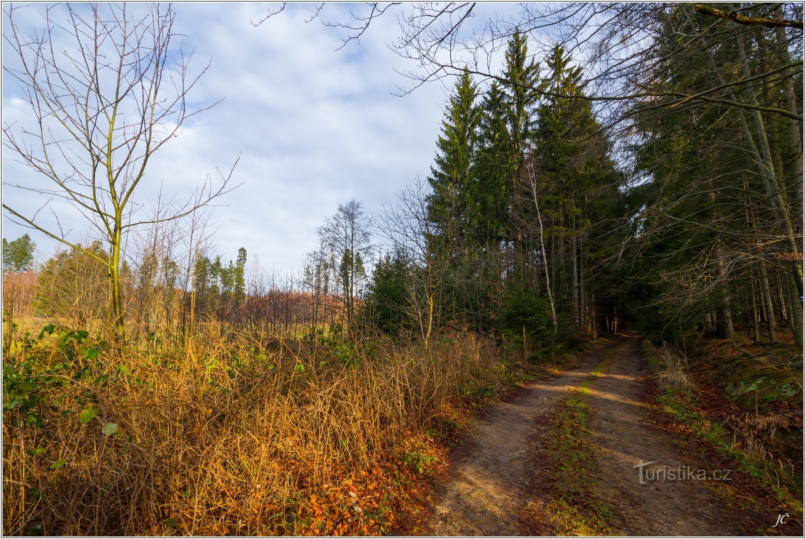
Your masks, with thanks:
[(586, 396), (607, 368), (613, 349), (570, 396), (559, 400), (548, 418), (543, 449), (534, 455), (537, 495), (527, 500), (521, 520), (530, 532), (564, 536), (615, 533), (617, 516), (599, 495), (598, 449), (590, 441), (591, 408)]

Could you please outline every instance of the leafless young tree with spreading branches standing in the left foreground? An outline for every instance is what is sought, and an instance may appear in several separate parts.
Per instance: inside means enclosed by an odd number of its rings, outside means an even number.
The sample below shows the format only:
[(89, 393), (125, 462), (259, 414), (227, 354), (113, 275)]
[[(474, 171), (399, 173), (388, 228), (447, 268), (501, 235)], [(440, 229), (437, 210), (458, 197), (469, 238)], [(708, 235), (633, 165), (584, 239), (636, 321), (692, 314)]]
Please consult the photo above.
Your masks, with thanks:
[(208, 176), (184, 203), (172, 199), (168, 214), (137, 217), (143, 207), (138, 188), (152, 156), (180, 134), (185, 120), (210, 108), (189, 109), (187, 102), (209, 64), (190, 73), (192, 55), (175, 46), (171, 6), (151, 5), (144, 15), (131, 13), (126, 4), (46, 6), (44, 29), (32, 34), (17, 22), (19, 9), (9, 6), (5, 12), (10, 28), (6, 44), (17, 60), (4, 70), (22, 83), (35, 120), (22, 127), (3, 126), (3, 143), (48, 180), (48, 186), (15, 187), (68, 201), (109, 244), (110, 255), (99, 257), (71, 243), (60, 224), (59, 230), (48, 230), (37, 224), (36, 214), (24, 216), (6, 204), (3, 208), (20, 224), (106, 266), (110, 327), (115, 338), (122, 338), (121, 264), (127, 232), (192, 214), (230, 189), (235, 165), (219, 172), (218, 186)]

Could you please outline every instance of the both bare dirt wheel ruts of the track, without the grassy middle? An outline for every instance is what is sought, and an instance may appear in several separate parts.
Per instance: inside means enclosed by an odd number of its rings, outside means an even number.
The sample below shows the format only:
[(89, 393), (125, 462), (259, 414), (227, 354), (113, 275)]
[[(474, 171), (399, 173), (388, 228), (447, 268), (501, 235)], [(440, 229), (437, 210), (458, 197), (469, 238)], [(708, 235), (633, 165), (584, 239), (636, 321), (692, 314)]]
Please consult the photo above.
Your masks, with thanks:
[[(455, 454), (451, 477), (437, 488), (429, 533), (524, 533), (520, 515), (523, 487), (529, 482), (526, 462), (531, 452), (542, 450), (536, 420), (586, 379), (590, 387), (584, 398), (592, 413), (589, 441), (596, 447), (595, 473), (605, 486), (597, 495), (617, 514), (618, 534), (741, 535), (769, 519), (767, 526), (775, 524), (775, 515), (767, 519), (730, 507), (725, 502), (728, 482), (714, 480), (725, 472), (708, 469), (708, 479), (700, 480), (699, 471), (706, 466), (693, 462), (696, 458), (675, 446), (668, 433), (650, 424), (640, 343), (640, 338), (624, 338), (587, 354), (559, 378), (529, 384), (513, 400), (494, 405)], [(601, 372), (591, 378), (595, 369)], [(652, 462), (643, 467), (644, 480), (635, 467), (639, 462)], [(683, 479), (677, 477), (679, 471), (685, 471)]]

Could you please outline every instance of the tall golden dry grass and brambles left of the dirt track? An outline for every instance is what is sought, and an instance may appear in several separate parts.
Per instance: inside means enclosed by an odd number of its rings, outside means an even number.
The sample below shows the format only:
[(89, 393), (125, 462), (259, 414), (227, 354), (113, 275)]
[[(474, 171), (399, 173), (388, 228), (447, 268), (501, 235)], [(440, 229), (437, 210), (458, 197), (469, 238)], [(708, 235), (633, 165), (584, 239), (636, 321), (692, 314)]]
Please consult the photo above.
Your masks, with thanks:
[[(511, 376), (501, 349), (467, 334), (399, 346), (208, 324), (97, 358), (91, 338), (62, 341), (6, 362), (6, 405), (41, 398), (4, 413), (6, 535), (388, 532), (412, 436), (458, 392)], [(81, 423), (85, 408), (98, 415)]]

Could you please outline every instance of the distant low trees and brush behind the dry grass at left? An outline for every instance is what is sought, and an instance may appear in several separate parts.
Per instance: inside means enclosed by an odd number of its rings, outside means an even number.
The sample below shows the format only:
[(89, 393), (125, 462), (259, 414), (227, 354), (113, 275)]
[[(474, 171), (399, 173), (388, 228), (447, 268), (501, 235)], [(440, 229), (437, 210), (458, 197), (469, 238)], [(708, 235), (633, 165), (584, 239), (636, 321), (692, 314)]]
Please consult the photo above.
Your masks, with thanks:
[[(92, 252), (99, 259), (108, 259), (109, 254), (98, 241), (77, 247), (57, 251), (36, 268), (30, 305), (19, 305), (18, 315), (47, 317), (79, 328), (106, 319), (108, 268), (85, 253)], [(280, 284), (276, 278), (261, 275), (247, 283), (243, 247), (235, 261), (224, 263), (222, 255), (210, 255), (206, 249), (195, 257), (191, 253), (190, 262), (184, 264), (183, 256), (158, 255), (162, 247), (152, 247), (122, 264), (130, 337), (186, 335), (199, 321), (224, 321), (252, 329), (278, 324), (288, 328), (311, 321), (310, 301), (295, 291), (291, 281)]]

